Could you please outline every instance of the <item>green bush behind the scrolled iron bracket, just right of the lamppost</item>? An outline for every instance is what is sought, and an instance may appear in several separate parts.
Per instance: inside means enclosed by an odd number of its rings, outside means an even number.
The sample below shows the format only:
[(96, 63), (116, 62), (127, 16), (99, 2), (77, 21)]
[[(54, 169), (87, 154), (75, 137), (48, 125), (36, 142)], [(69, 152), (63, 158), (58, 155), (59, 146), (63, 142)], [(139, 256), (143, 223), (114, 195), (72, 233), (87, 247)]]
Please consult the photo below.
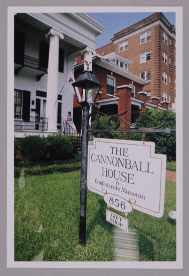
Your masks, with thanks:
[[(98, 127), (98, 129), (108, 129), (108, 125), (107, 122), (110, 118), (110, 116), (103, 116), (103, 115), (97, 115), (97, 118), (100, 122), (100, 125)], [(111, 127), (115, 127), (116, 126), (116, 122), (114, 122), (113, 120), (111, 120), (110, 123)], [(97, 122), (94, 121), (92, 124), (93, 128), (96, 128), (97, 126)], [(121, 127), (119, 127), (120, 129)], [(97, 134), (94, 134), (95, 137), (97, 137)], [(109, 139), (123, 139), (124, 137), (124, 133), (120, 133), (120, 132), (100, 132), (100, 137), (101, 138), (109, 138)]]

